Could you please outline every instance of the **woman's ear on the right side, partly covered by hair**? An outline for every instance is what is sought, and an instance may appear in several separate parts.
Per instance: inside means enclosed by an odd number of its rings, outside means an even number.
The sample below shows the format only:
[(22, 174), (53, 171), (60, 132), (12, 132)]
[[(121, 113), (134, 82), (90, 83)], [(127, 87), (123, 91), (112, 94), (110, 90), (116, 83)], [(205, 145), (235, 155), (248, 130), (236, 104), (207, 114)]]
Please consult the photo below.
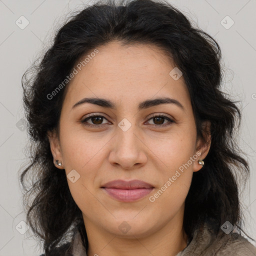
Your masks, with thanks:
[(204, 136), (206, 142), (204, 142), (202, 138), (198, 138), (198, 140), (196, 141), (196, 151), (195, 152), (197, 152), (197, 155), (198, 155), (198, 151), (199, 151), (200, 155), (194, 161), (193, 171), (198, 171), (202, 168), (202, 165), (198, 163), (198, 160), (203, 160), (206, 157), (206, 155), (208, 154), (209, 149), (210, 149), (210, 144), (211, 144), (210, 121), (208, 121), (208, 120), (203, 121), (202, 128), (203, 128), (203, 136)]

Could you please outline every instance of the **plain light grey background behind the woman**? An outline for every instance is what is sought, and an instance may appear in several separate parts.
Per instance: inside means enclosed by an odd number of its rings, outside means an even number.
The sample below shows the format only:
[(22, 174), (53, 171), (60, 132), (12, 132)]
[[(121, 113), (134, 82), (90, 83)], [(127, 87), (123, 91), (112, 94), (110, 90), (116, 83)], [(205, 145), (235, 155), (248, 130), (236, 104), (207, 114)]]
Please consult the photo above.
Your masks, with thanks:
[[(225, 88), (241, 100), (242, 126), (238, 138), (251, 167), (250, 181), (241, 196), (245, 231), (256, 239), (256, 0), (169, 0), (219, 43), (225, 65)], [(16, 225), (25, 220), (18, 170), (25, 161), (26, 130), (22, 131), (21, 75), (42, 49), (68, 12), (80, 9), (79, 0), (0, 0), (0, 256), (39, 255), (42, 250), (28, 230)], [(92, 4), (92, 2), (90, 2)], [(29, 24), (20, 29), (15, 21), (23, 15)], [(234, 24), (226, 29), (228, 15)], [(222, 21), (230, 24), (230, 20)], [(23, 23), (24, 24), (24, 23)], [(19, 123), (16, 125), (16, 123)], [(17, 127), (18, 126), (18, 127)], [(255, 243), (253, 243), (255, 244)]]

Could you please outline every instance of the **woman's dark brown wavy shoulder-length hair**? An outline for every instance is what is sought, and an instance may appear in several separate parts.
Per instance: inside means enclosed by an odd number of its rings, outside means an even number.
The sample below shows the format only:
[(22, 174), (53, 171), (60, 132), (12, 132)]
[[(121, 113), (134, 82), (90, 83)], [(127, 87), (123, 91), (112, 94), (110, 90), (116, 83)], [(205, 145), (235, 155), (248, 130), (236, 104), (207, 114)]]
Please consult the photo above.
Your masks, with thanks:
[[(47, 137), (48, 131), (58, 132), (68, 83), (52, 99), (47, 94), (65, 79), (81, 57), (113, 40), (123, 45), (139, 43), (160, 48), (183, 73), (197, 137), (205, 142), (202, 122), (211, 123), (211, 146), (205, 165), (193, 173), (185, 199), (183, 228), (189, 240), (203, 223), (208, 223), (217, 234), (228, 220), (240, 232), (243, 220), (238, 180), (247, 179), (249, 165), (241, 156), (234, 134), (241, 119), (235, 104), (238, 101), (221, 91), (223, 73), (218, 43), (167, 1), (101, 0), (71, 15), (43, 57), (22, 76), (30, 148), (29, 164), (24, 166), (20, 181), (25, 189), (26, 221), (43, 239), (45, 255), (68, 240), (67, 234), (72, 235), (75, 228), (83, 237), (83, 245), (88, 245), (81, 210), (70, 194), (65, 172), (53, 164)], [(29, 170), (30, 187), (24, 184)], [(29, 203), (31, 195), (34, 198)]]

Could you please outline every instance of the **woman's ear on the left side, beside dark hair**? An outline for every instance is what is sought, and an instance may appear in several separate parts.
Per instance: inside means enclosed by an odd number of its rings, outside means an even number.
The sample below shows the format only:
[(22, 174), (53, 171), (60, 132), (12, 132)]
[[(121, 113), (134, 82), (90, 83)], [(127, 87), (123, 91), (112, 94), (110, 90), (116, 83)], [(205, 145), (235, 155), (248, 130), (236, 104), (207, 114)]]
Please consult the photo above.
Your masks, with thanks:
[[(59, 169), (64, 169), (62, 154), (61, 154), (61, 149), (60, 149), (60, 143), (59, 143), (59, 139), (56, 134), (56, 131), (55, 130), (48, 131), (47, 136), (48, 136), (49, 143), (50, 143), (51, 154), (53, 156), (53, 164)], [(56, 163), (56, 160), (58, 160), (58, 162), (61, 162), (62, 165), (59, 166)]]

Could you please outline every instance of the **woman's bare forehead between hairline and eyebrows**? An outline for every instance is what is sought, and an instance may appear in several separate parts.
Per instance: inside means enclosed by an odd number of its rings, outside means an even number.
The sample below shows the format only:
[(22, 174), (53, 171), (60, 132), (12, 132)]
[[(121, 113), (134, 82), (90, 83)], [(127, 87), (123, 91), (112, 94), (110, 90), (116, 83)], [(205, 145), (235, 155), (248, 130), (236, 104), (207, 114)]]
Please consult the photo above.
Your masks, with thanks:
[(80, 70), (76, 68), (78, 72), (67, 88), (67, 103), (74, 104), (85, 96), (104, 97), (116, 102), (121, 98), (126, 103), (166, 95), (178, 98), (183, 105), (189, 100), (183, 77), (173, 79), (169, 73), (175, 65), (156, 46), (121, 45), (113, 41), (97, 50), (96, 54), (88, 52), (77, 62), (81, 63), (90, 55)]

